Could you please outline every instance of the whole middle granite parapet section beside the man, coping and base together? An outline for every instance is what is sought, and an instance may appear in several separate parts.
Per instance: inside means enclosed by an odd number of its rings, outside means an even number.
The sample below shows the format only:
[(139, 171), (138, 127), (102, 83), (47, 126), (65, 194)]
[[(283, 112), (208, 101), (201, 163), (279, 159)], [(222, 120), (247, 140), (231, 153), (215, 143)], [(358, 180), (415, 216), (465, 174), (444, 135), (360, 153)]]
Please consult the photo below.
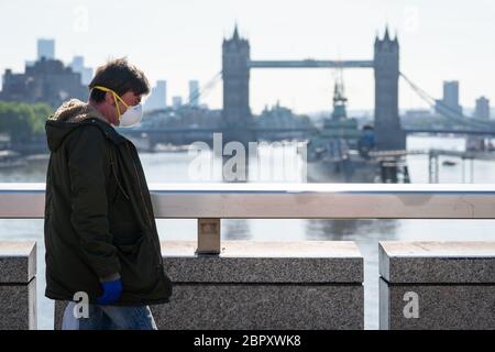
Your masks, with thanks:
[[(353, 242), (162, 242), (170, 301), (158, 329), (363, 329), (363, 257)], [(57, 305), (57, 327), (63, 305)]]

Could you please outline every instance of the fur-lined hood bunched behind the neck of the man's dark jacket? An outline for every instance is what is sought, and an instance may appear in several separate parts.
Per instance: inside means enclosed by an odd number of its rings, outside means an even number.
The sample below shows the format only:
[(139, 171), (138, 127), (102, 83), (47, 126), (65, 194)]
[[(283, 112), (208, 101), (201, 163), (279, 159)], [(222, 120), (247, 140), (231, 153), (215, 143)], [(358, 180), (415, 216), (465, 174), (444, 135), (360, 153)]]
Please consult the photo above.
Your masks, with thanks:
[[(97, 122), (107, 135), (113, 131), (113, 136), (120, 136), (97, 109), (87, 102), (70, 99), (46, 120), (45, 131), (50, 151), (55, 152), (70, 132), (88, 122)], [(123, 136), (120, 138), (123, 139)]]

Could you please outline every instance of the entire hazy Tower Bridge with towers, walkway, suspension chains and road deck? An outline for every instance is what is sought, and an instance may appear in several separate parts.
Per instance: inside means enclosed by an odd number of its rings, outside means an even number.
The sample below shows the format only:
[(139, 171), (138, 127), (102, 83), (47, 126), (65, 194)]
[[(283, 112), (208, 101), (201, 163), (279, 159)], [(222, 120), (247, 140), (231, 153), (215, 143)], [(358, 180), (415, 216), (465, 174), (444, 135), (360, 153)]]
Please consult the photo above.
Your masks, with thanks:
[[(477, 136), (494, 136), (495, 124), (474, 118), (449, 117), (455, 125), (451, 129), (404, 129), (399, 120), (398, 79), (402, 77), (408, 86), (428, 105), (435, 106), (436, 99), (415, 85), (399, 69), (399, 43), (397, 36), (391, 37), (388, 29), (383, 37), (376, 36), (372, 59), (252, 59), (250, 42), (239, 35), (235, 26), (230, 38), (222, 43), (222, 69), (198, 92), (199, 96), (212, 89), (217, 82), (223, 81), (222, 125), (202, 128), (141, 128), (125, 129), (122, 133), (150, 139), (150, 150), (160, 142), (189, 143), (191, 141), (211, 140), (213, 132), (223, 132), (223, 142), (239, 141), (248, 143), (260, 138), (285, 139), (297, 135), (308, 139), (311, 128), (260, 128), (254, 125), (250, 108), (250, 73), (251, 69), (263, 68), (326, 68), (326, 69), (361, 69), (374, 70), (374, 131), (377, 151), (405, 150), (406, 135), (413, 133), (453, 133)], [(448, 107), (444, 107), (448, 109)], [(460, 129), (459, 125), (463, 128)]]

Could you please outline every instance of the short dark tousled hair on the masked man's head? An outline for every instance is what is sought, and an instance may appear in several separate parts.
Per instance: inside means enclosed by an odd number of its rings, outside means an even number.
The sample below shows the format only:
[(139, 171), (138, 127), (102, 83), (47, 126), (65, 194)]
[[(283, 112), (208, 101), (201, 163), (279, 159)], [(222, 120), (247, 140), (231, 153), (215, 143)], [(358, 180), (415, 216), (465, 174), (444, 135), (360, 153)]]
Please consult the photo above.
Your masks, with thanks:
[(129, 64), (125, 57), (111, 59), (97, 68), (95, 77), (88, 86), (91, 89), (89, 98), (96, 102), (103, 101), (107, 92), (92, 89), (95, 86), (112, 89), (120, 97), (128, 91), (135, 95), (147, 95), (150, 92), (150, 82), (146, 76), (141, 69)]

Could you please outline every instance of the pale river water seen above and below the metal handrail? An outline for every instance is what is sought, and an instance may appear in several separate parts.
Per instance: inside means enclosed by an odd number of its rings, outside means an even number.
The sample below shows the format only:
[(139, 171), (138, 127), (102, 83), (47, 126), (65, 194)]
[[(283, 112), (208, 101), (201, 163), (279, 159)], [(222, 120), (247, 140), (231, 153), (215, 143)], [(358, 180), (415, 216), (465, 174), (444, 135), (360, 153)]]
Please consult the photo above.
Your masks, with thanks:
[[(458, 138), (409, 136), (408, 150), (449, 148), (463, 151), (465, 141)], [(287, 147), (282, 147), (287, 151)], [(294, 151), (289, 148), (289, 154)], [(263, 152), (260, 153), (262, 155)], [(276, 153), (279, 153), (276, 152)], [(275, 155), (276, 155), (275, 153)], [(285, 153), (285, 152), (284, 152)], [(282, 153), (283, 155), (286, 155)], [(188, 152), (140, 153), (148, 183), (188, 183), (199, 182), (196, 168), (191, 168), (194, 155)], [(275, 156), (277, 158), (277, 156)], [(279, 158), (278, 158), (279, 160)], [(440, 158), (440, 165), (444, 158)], [(440, 183), (462, 183), (462, 163), (453, 166), (440, 166)], [(270, 160), (261, 168), (268, 168)], [(411, 183), (428, 183), (428, 157), (408, 156)], [(251, 161), (250, 161), (251, 165)], [(288, 157), (285, 163), (289, 172), (282, 177), (272, 174), (272, 180), (305, 182), (304, 165)], [(251, 166), (250, 166), (251, 167)], [(495, 163), (475, 161), (473, 179), (471, 165), (466, 162), (465, 182), (494, 183)], [(252, 168), (252, 167), (251, 167)], [(202, 170), (205, 173), (205, 170)], [(31, 162), (25, 167), (0, 169), (0, 183), (45, 182), (46, 161)], [(215, 172), (207, 170), (212, 182), (221, 182)], [(208, 178), (207, 177), (207, 178)], [(263, 180), (251, 177), (251, 182)], [(163, 240), (196, 240), (196, 220), (156, 220), (160, 237)], [(365, 328), (378, 328), (378, 241), (382, 240), (495, 240), (495, 220), (224, 220), (222, 239), (254, 241), (298, 241), (298, 240), (339, 240), (355, 241), (364, 255), (364, 296)], [(37, 241), (37, 307), (38, 329), (53, 328), (53, 302), (44, 297), (44, 246), (43, 220), (0, 219), (0, 240)]]

